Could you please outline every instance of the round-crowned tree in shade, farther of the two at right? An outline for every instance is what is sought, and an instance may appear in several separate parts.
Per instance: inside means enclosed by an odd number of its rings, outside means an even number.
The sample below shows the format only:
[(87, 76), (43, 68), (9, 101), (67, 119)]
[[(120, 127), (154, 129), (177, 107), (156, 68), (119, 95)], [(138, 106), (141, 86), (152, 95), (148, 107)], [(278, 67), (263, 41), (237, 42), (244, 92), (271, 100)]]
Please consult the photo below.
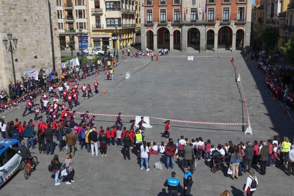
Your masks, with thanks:
[(275, 49), (280, 37), (280, 31), (274, 27), (267, 27), (259, 34), (259, 38), (265, 43), (268, 52), (270, 49)]

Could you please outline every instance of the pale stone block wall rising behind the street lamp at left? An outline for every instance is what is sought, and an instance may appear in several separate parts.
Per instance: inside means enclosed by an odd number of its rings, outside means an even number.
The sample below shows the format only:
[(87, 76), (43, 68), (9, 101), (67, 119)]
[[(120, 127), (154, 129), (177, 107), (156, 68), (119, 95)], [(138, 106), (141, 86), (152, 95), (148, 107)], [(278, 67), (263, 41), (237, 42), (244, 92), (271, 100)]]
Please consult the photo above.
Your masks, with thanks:
[[(8, 32), (18, 38), (13, 52), (16, 80), (23, 80), (24, 70), (61, 69), (59, 33), (55, 0), (0, 1), (0, 88), (13, 81), (11, 53), (2, 42)], [(14, 46), (14, 45), (13, 45)], [(34, 56), (37, 55), (35, 58)]]

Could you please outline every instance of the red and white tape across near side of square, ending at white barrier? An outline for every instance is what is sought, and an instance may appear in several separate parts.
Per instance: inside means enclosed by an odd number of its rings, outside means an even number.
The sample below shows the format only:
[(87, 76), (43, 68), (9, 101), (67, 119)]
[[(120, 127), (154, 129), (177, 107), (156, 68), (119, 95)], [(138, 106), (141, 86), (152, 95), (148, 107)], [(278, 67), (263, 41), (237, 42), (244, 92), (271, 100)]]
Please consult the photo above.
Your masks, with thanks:
[[(84, 114), (83, 112), (76, 112), (77, 114)], [(117, 114), (96, 114), (96, 113), (89, 113), (90, 115), (97, 115), (97, 116), (117, 116)], [(136, 117), (136, 115), (121, 115), (123, 117)], [(159, 119), (159, 120), (171, 120), (180, 123), (194, 123), (194, 124), (208, 124), (208, 125), (248, 125), (248, 123), (211, 123), (211, 122), (197, 122), (197, 121), (189, 121), (189, 120), (174, 120), (169, 118), (158, 118), (152, 116), (146, 116), (149, 118)]]

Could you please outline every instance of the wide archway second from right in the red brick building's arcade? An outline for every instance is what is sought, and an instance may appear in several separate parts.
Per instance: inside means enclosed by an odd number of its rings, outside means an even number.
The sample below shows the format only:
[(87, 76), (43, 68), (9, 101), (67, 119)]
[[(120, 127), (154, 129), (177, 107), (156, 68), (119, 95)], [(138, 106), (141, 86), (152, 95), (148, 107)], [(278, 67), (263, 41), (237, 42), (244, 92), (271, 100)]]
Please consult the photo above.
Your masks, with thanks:
[(218, 50), (231, 50), (233, 31), (228, 26), (218, 30)]

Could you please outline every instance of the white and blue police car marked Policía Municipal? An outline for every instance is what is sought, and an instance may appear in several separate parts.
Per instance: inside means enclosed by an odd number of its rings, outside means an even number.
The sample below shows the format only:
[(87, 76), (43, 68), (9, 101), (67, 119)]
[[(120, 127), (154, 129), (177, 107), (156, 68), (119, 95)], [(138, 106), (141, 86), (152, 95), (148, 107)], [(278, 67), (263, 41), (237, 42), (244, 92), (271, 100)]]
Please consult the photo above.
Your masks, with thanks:
[(12, 150), (9, 145), (21, 147), (19, 140), (0, 139), (0, 187), (19, 170), (21, 162), (20, 151)]

